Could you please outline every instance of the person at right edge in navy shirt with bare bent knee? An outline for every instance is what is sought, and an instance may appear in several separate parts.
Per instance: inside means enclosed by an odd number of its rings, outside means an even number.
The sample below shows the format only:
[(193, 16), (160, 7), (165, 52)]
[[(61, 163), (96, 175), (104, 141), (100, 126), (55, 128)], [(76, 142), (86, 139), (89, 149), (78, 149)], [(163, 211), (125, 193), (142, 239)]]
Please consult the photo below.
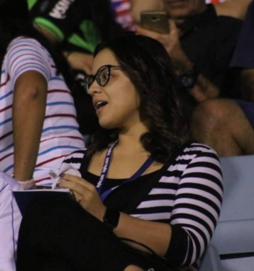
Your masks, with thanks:
[(230, 66), (242, 69), (242, 99), (201, 103), (193, 115), (195, 138), (221, 156), (254, 154), (254, 1), (249, 5)]

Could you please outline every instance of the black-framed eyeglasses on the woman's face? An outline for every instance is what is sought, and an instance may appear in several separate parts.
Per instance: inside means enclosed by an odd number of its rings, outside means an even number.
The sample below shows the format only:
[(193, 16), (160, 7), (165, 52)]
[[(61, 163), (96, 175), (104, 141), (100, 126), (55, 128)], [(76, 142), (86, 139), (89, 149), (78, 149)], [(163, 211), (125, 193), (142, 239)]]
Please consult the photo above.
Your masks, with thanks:
[(114, 65), (103, 65), (101, 66), (95, 75), (86, 75), (84, 78), (84, 89), (89, 94), (89, 88), (96, 80), (99, 86), (106, 86), (110, 80), (110, 71), (111, 69), (122, 70), (120, 66)]

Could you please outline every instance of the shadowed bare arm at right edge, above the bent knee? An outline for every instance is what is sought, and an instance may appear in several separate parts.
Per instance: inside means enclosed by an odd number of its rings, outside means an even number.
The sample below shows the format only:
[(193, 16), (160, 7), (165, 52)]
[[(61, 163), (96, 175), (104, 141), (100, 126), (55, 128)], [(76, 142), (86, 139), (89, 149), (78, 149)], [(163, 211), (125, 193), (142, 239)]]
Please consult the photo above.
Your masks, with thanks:
[(254, 68), (244, 69), (241, 73), (241, 92), (243, 98), (254, 102)]

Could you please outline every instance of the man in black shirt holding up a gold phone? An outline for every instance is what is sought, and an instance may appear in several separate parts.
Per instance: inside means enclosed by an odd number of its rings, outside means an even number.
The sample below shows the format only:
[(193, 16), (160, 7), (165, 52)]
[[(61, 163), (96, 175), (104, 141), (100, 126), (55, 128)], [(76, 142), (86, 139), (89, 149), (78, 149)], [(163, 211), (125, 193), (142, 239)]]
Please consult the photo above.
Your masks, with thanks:
[(164, 45), (180, 82), (197, 102), (226, 96), (231, 81), (228, 66), (241, 20), (217, 16), (214, 6), (206, 5), (204, 0), (163, 2), (171, 19), (170, 33), (163, 35), (139, 26), (137, 32)]

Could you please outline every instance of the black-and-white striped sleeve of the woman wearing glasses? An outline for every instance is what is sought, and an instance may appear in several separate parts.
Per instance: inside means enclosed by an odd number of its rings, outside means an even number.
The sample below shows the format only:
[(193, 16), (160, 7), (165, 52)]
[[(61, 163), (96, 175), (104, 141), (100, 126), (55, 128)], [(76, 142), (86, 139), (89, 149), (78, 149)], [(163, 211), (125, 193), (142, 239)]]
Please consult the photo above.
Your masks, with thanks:
[(170, 224), (181, 234), (172, 238), (167, 254), (172, 254), (177, 243), (186, 244), (178, 264), (190, 266), (204, 253), (219, 218), (222, 194), (218, 157), (213, 150), (203, 148), (180, 177), (171, 213)]

